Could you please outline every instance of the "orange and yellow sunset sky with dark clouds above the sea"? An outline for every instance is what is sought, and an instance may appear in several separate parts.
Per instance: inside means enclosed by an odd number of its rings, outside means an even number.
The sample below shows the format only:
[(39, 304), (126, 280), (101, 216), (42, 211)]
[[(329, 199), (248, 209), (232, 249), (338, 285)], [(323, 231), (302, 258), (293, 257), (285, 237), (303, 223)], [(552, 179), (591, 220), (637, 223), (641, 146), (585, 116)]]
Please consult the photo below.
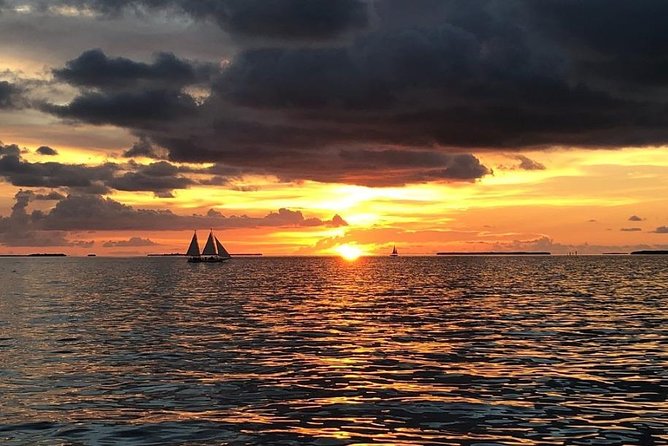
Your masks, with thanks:
[(665, 0), (0, 0), (0, 254), (668, 249)]

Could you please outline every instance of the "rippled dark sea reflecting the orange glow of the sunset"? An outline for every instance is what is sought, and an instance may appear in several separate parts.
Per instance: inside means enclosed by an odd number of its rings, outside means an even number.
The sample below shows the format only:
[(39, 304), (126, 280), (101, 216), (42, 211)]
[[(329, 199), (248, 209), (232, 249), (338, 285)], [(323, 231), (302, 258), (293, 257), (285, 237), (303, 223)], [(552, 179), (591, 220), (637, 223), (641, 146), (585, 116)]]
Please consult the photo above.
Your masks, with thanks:
[(0, 443), (668, 444), (668, 257), (0, 259)]

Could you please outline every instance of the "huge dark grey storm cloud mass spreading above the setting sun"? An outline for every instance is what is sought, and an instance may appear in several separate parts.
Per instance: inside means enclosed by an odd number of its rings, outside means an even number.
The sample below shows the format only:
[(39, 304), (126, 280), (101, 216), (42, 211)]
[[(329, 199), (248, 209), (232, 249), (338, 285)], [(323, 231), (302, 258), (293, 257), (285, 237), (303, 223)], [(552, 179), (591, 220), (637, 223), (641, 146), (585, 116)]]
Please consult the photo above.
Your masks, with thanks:
[[(82, 88), (69, 104), (43, 110), (124, 127), (164, 147), (173, 161), (379, 184), (340, 151), (419, 156), (668, 142), (668, 56), (660, 50), (668, 42), (665, 2), (79, 3), (105, 14), (171, 8), (216, 20), (238, 35), (282, 37), (241, 44), (222, 73), (200, 85), (207, 94), (197, 97), (179, 88), (194, 82), (186, 66), (196, 64), (176, 56), (147, 64), (93, 51), (55, 71)], [(305, 21), (314, 5), (338, 20), (336, 32), (318, 17)], [(362, 17), (351, 12), (358, 7), (372, 19), (336, 19)], [(348, 12), (334, 11), (339, 8)], [(357, 32), (347, 39), (322, 41), (351, 29)], [(450, 168), (437, 157), (419, 168), (404, 159), (404, 172), (385, 175), (382, 184), (469, 181), (489, 173), (472, 155), (462, 156), (469, 164)], [(544, 167), (518, 161), (522, 169)]]

